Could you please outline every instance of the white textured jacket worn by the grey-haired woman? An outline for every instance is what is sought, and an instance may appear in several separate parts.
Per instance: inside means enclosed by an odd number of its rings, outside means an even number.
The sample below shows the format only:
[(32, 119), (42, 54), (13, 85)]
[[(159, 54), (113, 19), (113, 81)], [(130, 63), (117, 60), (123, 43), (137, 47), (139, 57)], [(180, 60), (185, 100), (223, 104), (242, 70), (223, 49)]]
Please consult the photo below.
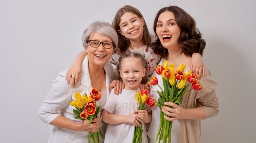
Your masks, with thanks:
[[(99, 103), (101, 103), (101, 106), (106, 103), (106, 99), (110, 93), (108, 87), (113, 80), (113, 68), (111, 63), (106, 63), (104, 70), (106, 72), (106, 94), (102, 96), (106, 96), (106, 98), (105, 101), (97, 102), (98, 106)], [(52, 88), (39, 109), (38, 115), (45, 124), (49, 124), (60, 114), (75, 122), (81, 122), (81, 120), (74, 118), (73, 109), (75, 109), (75, 107), (72, 107), (69, 102), (76, 100), (74, 97), (75, 92), (79, 91), (81, 95), (86, 93), (89, 96), (91, 89), (93, 89), (89, 76), (88, 57), (86, 56), (83, 60), (80, 83), (78, 83), (76, 87), (73, 88), (67, 84), (65, 80), (66, 72), (67, 70), (60, 72), (53, 81)], [(104, 98), (102, 98), (102, 100), (104, 100)], [(74, 131), (54, 126), (48, 143), (87, 143), (87, 141), (88, 133), (86, 131)]]

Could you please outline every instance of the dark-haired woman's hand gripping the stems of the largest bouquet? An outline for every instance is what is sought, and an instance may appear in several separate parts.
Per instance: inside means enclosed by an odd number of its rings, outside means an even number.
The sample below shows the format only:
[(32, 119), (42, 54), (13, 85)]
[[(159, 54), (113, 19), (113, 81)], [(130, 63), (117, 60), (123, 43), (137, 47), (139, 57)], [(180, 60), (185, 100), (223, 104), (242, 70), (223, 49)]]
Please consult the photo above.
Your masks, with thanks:
[(164, 102), (165, 105), (171, 106), (173, 108), (167, 107), (167, 106), (162, 106), (162, 111), (166, 115), (170, 116), (163, 116), (166, 120), (169, 121), (174, 121), (178, 119), (185, 119), (184, 116), (184, 108), (180, 107), (179, 105), (173, 103), (173, 102)]

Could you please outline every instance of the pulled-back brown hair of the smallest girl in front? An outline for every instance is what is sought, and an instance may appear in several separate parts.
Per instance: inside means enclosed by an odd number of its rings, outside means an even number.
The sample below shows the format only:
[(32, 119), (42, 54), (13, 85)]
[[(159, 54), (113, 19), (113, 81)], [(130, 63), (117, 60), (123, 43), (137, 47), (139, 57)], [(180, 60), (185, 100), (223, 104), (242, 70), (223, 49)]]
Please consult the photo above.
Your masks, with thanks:
[[(122, 80), (122, 78), (121, 78), (121, 76), (120, 76), (120, 72), (119, 72), (120, 66), (121, 66), (121, 64), (122, 64), (122, 60), (125, 59), (125, 58), (128, 58), (128, 57), (140, 59), (142, 67), (146, 69), (146, 71), (145, 71), (145, 76), (142, 77), (142, 80), (141, 80), (140, 83), (141, 83), (141, 84), (147, 83), (147, 82), (148, 82), (148, 78), (146, 77), (146, 75), (147, 75), (147, 72), (148, 72), (148, 63), (147, 63), (147, 61), (146, 61), (146, 59), (145, 59), (144, 56), (142, 56), (140, 53), (134, 53), (134, 52), (127, 52), (127, 53), (124, 53), (124, 54), (122, 54), (122, 56), (120, 57), (119, 63), (117, 64), (117, 72), (118, 72), (118, 75), (119, 75), (119, 80)], [(131, 66), (132, 66), (132, 65), (131, 65)]]

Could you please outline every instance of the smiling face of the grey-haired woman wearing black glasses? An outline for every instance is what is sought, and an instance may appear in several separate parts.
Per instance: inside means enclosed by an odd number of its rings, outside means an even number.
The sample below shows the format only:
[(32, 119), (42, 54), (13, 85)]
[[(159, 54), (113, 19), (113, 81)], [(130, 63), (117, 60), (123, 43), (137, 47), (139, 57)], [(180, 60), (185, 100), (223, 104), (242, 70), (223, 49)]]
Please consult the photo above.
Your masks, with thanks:
[[(100, 35), (97, 32), (94, 32), (88, 40), (113, 42), (108, 36)], [(113, 47), (110, 49), (106, 49), (102, 46), (102, 44), (100, 44), (100, 46), (97, 48), (91, 47), (91, 45), (89, 44), (88, 47), (85, 48), (85, 50), (87, 51), (89, 65), (92, 64), (99, 67), (103, 67), (106, 62), (108, 62), (113, 53)]]

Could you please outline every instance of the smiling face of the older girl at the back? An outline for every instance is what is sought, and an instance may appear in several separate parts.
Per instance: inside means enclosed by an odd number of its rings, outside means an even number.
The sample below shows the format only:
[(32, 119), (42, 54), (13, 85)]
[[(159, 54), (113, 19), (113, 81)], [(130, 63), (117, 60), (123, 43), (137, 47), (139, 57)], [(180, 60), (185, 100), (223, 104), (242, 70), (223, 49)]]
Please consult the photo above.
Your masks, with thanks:
[(131, 41), (141, 41), (145, 21), (136, 14), (125, 12), (120, 18), (119, 33)]

